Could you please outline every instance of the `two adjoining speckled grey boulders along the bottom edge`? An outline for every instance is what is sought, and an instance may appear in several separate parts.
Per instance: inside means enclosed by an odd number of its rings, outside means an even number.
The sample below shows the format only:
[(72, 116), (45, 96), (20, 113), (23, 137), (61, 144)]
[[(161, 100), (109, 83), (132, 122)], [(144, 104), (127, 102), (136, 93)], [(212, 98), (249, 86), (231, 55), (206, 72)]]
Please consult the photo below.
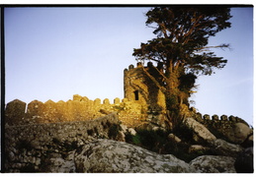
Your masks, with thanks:
[(190, 163), (123, 142), (97, 140), (76, 150), (77, 172), (108, 173), (235, 173), (235, 157), (202, 155)]

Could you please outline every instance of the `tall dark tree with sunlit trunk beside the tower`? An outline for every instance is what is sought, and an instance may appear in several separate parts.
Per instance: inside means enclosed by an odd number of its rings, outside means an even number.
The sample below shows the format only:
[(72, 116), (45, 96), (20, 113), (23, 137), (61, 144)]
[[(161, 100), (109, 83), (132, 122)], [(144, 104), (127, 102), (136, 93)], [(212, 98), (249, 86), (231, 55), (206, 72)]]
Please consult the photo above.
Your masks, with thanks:
[[(169, 6), (155, 7), (146, 13), (146, 26), (154, 29), (156, 37), (141, 43), (133, 50), (138, 61), (154, 61), (161, 68), (158, 77), (146, 73), (165, 94), (166, 107), (172, 115), (181, 115), (181, 105), (189, 106), (188, 98), (199, 75), (212, 75), (227, 60), (215, 56), (209, 38), (216, 32), (231, 27), (230, 8), (223, 6)], [(146, 70), (144, 70), (146, 72)]]

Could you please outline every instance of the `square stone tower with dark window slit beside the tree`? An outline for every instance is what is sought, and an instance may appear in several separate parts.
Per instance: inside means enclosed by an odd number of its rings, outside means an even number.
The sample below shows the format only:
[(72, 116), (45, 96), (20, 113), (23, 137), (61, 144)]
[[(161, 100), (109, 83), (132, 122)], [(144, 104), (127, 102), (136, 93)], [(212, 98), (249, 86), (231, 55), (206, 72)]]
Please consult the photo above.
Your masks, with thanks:
[(137, 67), (129, 65), (124, 73), (125, 98), (129, 101), (136, 101), (144, 106), (148, 111), (165, 112), (165, 96), (155, 83), (146, 75), (146, 72), (159, 81), (161, 66), (156, 68), (151, 62), (147, 66), (137, 63)]

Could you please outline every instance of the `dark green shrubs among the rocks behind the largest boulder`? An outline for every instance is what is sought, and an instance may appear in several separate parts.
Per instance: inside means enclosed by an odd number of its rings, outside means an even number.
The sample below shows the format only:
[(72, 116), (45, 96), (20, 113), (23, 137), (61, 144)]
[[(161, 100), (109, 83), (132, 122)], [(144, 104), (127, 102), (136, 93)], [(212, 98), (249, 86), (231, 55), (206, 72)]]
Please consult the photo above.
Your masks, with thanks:
[[(177, 143), (168, 138), (170, 133), (175, 134), (182, 139), (181, 143)], [(214, 154), (211, 150), (199, 150), (189, 153), (189, 148), (194, 145), (192, 130), (186, 127), (177, 127), (173, 131), (163, 130), (136, 130), (136, 135), (126, 134), (126, 142), (141, 148), (161, 153), (161, 154), (173, 154), (177, 158), (180, 158), (186, 162), (190, 162), (192, 159), (204, 155)]]

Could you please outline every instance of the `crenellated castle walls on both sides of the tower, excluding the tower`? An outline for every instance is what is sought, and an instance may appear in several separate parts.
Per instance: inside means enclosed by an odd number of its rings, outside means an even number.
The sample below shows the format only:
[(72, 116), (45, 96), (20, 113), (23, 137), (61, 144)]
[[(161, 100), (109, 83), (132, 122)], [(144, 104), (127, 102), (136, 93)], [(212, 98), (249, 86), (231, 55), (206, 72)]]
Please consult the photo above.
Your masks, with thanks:
[[(73, 95), (73, 100), (66, 102), (48, 100), (43, 103), (34, 100), (28, 106), (25, 102), (16, 99), (6, 105), (5, 123), (6, 127), (9, 127), (77, 122), (94, 120), (112, 112), (117, 112), (119, 120), (128, 127), (142, 126), (143, 128), (152, 129), (157, 124), (162, 128), (171, 128), (166, 114), (162, 111), (148, 109), (146, 105), (139, 100), (128, 100), (128, 98), (124, 98), (122, 101), (120, 98), (116, 98), (114, 103), (110, 103), (109, 99), (104, 99), (103, 103), (101, 103), (99, 98), (90, 100), (78, 94)], [(193, 117), (211, 130), (214, 135), (222, 137), (228, 142), (234, 142), (232, 133), (236, 123), (248, 125), (238, 117), (222, 115), (219, 118), (217, 115), (213, 115), (211, 118), (208, 114), (202, 116), (201, 113), (193, 110), (191, 110), (187, 117)]]

